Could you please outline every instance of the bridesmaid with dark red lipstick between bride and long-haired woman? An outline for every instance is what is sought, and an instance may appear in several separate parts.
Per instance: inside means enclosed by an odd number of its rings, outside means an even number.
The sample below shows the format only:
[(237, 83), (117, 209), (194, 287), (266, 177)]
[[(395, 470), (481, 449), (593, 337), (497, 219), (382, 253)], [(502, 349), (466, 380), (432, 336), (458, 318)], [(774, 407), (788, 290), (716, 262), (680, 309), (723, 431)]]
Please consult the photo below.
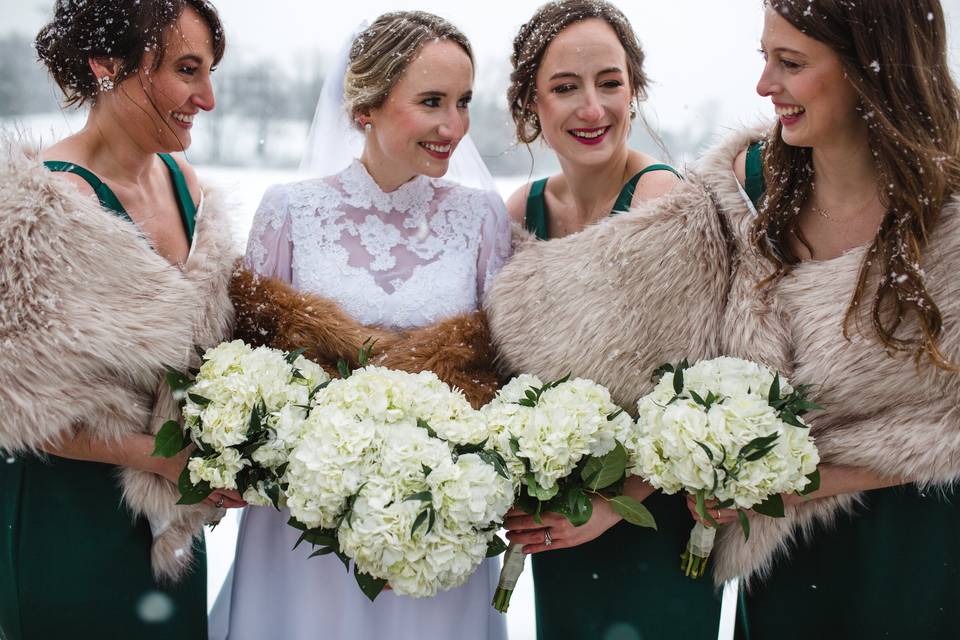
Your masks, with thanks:
[[(613, 5), (566, 0), (542, 6), (520, 28), (512, 61), (507, 97), (517, 137), (530, 144), (542, 135), (562, 169), (513, 194), (507, 208), (515, 222), (542, 240), (561, 238), (679, 184), (673, 168), (627, 146), (647, 76), (640, 43)], [(627, 489), (645, 499), (659, 531), (621, 522), (600, 499), (581, 527), (554, 513), (538, 524), (511, 512), (508, 538), (535, 554), (538, 637), (716, 636), (719, 601), (712, 585), (692, 582), (678, 569), (693, 525), (683, 499), (651, 495), (637, 478)]]

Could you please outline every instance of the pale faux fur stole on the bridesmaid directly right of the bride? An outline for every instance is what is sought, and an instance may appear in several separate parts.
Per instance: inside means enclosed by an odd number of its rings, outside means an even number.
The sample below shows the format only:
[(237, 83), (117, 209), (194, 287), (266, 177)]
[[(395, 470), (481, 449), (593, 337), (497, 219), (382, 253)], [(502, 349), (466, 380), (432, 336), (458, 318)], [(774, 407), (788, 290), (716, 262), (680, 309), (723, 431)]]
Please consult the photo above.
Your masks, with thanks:
[(571, 373), (635, 412), (653, 370), (720, 353), (728, 233), (697, 176), (573, 235), (520, 245), (484, 308), (503, 373)]

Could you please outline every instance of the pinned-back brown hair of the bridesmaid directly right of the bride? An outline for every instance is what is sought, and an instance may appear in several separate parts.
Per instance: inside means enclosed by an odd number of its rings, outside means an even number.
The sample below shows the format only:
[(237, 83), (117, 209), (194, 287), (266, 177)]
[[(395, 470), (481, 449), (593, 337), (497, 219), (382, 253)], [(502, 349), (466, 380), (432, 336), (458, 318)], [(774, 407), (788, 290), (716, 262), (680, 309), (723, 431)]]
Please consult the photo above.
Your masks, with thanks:
[(627, 54), (627, 75), (633, 97), (637, 101), (646, 99), (648, 80), (643, 71), (643, 49), (626, 16), (603, 0), (549, 2), (537, 9), (513, 39), (513, 55), (510, 57), (513, 72), (507, 89), (507, 103), (520, 142), (530, 144), (540, 135), (540, 121), (530, 105), (536, 96), (537, 71), (547, 47), (568, 26), (590, 18), (603, 20), (617, 34)]

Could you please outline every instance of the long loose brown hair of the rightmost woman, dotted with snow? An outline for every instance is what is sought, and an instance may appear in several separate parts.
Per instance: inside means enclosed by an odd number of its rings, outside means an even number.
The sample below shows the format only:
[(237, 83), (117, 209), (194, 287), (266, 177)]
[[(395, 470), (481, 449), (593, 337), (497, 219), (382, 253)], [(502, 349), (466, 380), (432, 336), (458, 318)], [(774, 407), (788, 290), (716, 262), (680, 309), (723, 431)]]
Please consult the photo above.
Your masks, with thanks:
[[(947, 64), (946, 26), (939, 0), (766, 0), (794, 28), (829, 46), (860, 96), (876, 159), (886, 214), (860, 265), (844, 318), (862, 317), (872, 272), (879, 274), (870, 302), (877, 339), (913, 351), (919, 362), (954, 369), (937, 342), (943, 317), (924, 284), (924, 249), (940, 211), (960, 186), (960, 93)], [(791, 147), (778, 123), (764, 144), (767, 192), (753, 241), (774, 265), (766, 282), (799, 262), (789, 235), (813, 184), (811, 149)], [(769, 241), (768, 241), (769, 239)], [(898, 335), (908, 315), (919, 337)]]

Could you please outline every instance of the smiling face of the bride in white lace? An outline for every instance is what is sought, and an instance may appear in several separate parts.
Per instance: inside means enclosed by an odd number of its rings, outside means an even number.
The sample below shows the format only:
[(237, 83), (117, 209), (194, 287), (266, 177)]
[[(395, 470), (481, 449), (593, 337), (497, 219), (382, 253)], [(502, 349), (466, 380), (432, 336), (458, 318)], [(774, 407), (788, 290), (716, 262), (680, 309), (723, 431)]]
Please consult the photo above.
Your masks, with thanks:
[(472, 87), (473, 63), (460, 45), (434, 40), (420, 49), (384, 104), (361, 116), (371, 125), (363, 161), (381, 187), (447, 172), (470, 127)]

